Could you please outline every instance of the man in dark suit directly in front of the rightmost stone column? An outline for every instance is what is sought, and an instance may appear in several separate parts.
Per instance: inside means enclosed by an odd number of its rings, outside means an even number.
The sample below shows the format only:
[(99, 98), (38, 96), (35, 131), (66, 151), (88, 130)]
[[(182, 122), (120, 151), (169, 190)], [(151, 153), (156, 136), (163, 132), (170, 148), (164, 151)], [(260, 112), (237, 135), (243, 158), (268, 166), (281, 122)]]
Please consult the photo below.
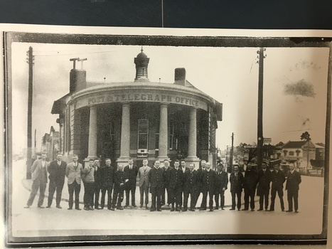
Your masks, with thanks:
[(189, 164), (189, 169), (184, 174), (185, 184), (183, 187), (183, 212), (188, 210), (188, 197), (191, 195), (191, 206), (190, 211), (195, 211), (197, 184), (198, 184), (198, 173), (194, 169), (195, 164)]

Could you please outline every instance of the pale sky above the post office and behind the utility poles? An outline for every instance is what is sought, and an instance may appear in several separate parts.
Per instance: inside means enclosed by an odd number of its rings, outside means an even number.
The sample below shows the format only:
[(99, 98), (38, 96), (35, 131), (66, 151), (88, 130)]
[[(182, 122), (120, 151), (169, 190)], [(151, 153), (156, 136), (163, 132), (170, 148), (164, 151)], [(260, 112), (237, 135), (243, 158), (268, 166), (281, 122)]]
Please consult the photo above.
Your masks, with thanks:
[[(59, 130), (53, 102), (69, 92), (70, 58), (87, 58), (87, 81), (131, 82), (134, 58), (141, 46), (12, 43), (13, 150), (26, 147), (28, 63), (33, 48), (33, 130), (37, 149), (50, 126)], [(144, 46), (150, 58), (149, 80), (173, 83), (174, 69), (186, 68), (186, 79), (223, 103), (216, 144), (257, 142), (259, 48)], [(263, 136), (272, 144), (300, 140), (303, 132), (313, 142), (325, 141), (328, 48), (267, 48), (264, 52)], [(80, 68), (80, 63), (77, 63)], [(33, 133), (34, 134), (34, 133)]]

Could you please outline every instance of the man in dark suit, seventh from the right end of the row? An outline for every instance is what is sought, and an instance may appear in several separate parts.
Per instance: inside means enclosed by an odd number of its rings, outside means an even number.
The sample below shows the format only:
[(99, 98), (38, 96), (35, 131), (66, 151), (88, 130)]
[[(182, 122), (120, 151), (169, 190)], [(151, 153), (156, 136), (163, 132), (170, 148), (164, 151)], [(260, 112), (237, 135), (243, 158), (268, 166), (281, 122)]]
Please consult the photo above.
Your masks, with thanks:
[[(207, 202), (209, 195), (209, 209), (210, 212), (213, 211), (213, 195), (215, 194), (215, 171), (210, 169), (210, 162), (206, 163), (205, 171), (202, 174), (202, 183), (203, 183), (203, 201)], [(200, 208), (200, 210), (205, 210), (205, 208)]]

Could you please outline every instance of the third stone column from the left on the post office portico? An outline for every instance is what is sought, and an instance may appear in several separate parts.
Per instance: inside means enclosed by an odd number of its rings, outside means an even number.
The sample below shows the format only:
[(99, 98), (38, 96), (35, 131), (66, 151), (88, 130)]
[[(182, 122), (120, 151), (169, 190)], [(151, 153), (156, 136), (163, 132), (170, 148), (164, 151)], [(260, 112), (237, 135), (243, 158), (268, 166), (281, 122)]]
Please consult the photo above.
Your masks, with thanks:
[(160, 122), (159, 122), (159, 161), (163, 164), (164, 159), (168, 159), (168, 122), (167, 122), (167, 105), (160, 105)]

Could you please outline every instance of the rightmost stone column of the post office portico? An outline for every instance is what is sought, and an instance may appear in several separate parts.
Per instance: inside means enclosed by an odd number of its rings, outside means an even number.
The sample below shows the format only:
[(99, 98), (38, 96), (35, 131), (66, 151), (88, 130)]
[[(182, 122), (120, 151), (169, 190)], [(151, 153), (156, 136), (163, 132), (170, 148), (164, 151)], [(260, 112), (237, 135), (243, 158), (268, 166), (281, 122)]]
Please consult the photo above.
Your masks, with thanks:
[(189, 119), (189, 137), (188, 137), (188, 157), (186, 158), (186, 166), (194, 163), (195, 169), (199, 167), (199, 158), (196, 155), (197, 150), (197, 127), (196, 127), (196, 108), (191, 109)]

